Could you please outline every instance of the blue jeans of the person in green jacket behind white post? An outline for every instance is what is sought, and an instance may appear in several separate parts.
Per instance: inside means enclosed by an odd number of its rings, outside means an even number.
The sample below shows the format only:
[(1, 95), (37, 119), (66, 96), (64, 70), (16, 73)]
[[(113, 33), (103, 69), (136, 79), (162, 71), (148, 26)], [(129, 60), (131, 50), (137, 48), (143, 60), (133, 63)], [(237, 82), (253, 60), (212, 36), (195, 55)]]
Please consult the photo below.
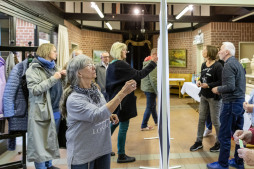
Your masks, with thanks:
[(151, 114), (153, 116), (154, 123), (155, 124), (158, 123), (158, 117), (157, 117), (157, 112), (156, 112), (156, 94), (150, 93), (150, 92), (145, 92), (145, 95), (146, 95), (146, 110), (144, 113), (141, 128), (147, 127), (147, 122), (148, 122)]

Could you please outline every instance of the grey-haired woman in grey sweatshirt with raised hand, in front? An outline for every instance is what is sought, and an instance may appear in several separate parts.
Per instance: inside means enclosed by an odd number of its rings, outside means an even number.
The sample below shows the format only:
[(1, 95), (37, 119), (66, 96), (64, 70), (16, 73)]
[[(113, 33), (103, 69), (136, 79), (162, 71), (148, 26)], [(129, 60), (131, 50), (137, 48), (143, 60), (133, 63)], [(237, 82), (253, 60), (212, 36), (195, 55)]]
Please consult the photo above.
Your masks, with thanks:
[[(110, 169), (110, 116), (136, 89), (136, 82), (129, 80), (106, 103), (94, 78), (96, 71), (90, 57), (78, 55), (68, 63), (70, 85), (64, 90), (62, 115), (67, 116), (67, 162), (71, 169)], [(114, 119), (118, 123), (118, 118)]]

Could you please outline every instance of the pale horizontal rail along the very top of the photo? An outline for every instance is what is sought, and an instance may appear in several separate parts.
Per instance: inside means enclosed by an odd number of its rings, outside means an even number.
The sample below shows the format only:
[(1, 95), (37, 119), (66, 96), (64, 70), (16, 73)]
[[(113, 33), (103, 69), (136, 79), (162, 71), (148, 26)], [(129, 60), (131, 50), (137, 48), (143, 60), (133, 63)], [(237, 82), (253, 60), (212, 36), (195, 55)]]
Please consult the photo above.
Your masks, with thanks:
[[(35, 1), (35, 0), (19, 0), (19, 1)], [(36, 0), (51, 2), (74, 2), (84, 0)], [(120, 2), (120, 3), (160, 3), (161, 0), (85, 0), (86, 2)], [(203, 4), (203, 5), (227, 5), (227, 6), (254, 6), (253, 0), (167, 0), (169, 4)]]

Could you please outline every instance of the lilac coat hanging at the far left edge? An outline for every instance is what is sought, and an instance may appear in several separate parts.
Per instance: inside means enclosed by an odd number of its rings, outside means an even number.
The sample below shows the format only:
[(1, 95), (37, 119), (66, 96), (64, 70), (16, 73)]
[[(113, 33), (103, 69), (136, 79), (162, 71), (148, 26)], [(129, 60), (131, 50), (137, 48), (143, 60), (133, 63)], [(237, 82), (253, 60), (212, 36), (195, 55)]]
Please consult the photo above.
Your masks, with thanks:
[(2, 99), (3, 99), (5, 84), (6, 84), (4, 66), (5, 66), (5, 61), (0, 56), (0, 118), (3, 117)]

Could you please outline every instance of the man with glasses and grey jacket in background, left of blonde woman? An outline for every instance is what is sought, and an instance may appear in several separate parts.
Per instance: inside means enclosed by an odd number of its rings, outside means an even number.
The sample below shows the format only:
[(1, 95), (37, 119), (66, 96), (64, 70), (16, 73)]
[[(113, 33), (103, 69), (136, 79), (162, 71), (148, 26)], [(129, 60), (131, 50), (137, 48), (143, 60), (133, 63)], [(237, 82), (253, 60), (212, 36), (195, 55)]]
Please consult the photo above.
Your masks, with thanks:
[(95, 82), (100, 86), (101, 93), (106, 97), (106, 71), (109, 64), (109, 53), (102, 52), (101, 53), (101, 63), (96, 65), (96, 78)]

